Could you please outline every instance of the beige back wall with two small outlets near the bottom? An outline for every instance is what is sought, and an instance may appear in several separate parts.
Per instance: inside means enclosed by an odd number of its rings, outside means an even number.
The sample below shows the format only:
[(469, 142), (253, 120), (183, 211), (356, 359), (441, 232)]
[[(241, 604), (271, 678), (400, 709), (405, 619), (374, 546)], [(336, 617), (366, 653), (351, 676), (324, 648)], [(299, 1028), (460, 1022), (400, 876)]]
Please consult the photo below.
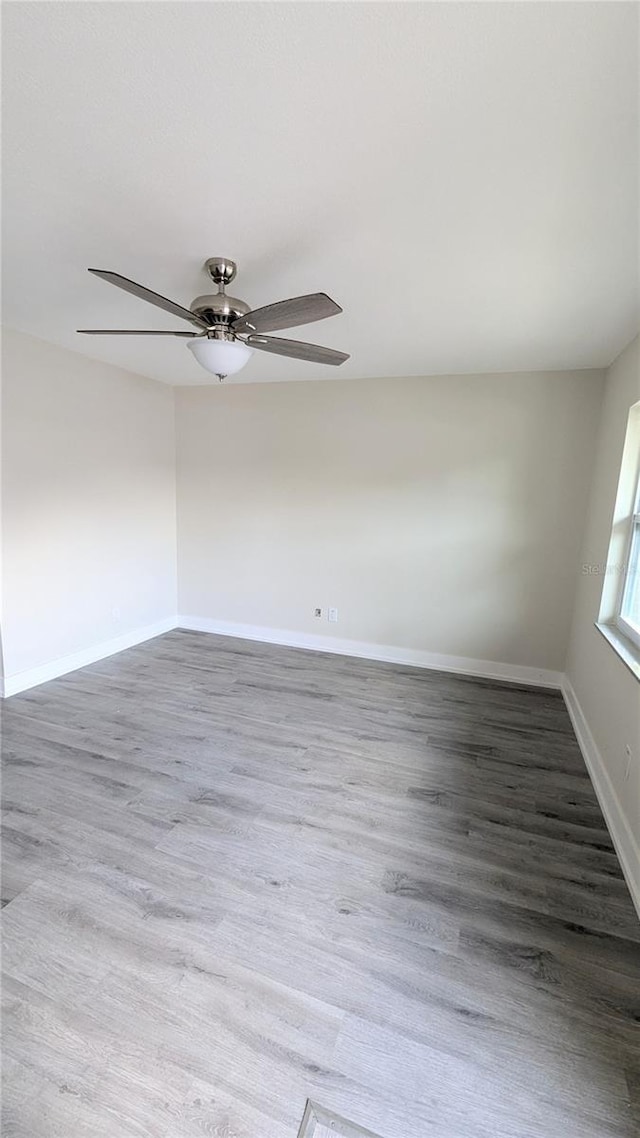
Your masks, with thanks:
[(601, 387), (178, 389), (180, 613), (563, 669)]

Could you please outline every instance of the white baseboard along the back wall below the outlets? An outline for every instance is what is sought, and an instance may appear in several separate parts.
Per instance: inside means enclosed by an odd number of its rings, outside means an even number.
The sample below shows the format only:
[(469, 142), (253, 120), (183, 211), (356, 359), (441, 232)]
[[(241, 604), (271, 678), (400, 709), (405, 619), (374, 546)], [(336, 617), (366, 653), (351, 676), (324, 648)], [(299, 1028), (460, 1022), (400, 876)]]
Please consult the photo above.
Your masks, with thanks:
[(436, 671), (454, 671), (465, 676), (482, 676), (486, 679), (533, 684), (540, 687), (560, 687), (563, 682), (560, 671), (551, 671), (547, 668), (530, 668), (519, 663), (498, 663), (494, 660), (474, 660), (465, 655), (441, 655), (437, 652), (424, 652), (421, 649), (395, 648), (389, 644), (374, 644), (370, 641), (350, 641), (337, 636), (265, 628), (262, 625), (240, 625), (231, 620), (212, 620), (208, 617), (178, 617), (178, 628), (196, 633), (214, 633), (218, 636), (235, 636), (239, 640), (262, 641), (265, 644), (285, 644), (287, 648), (304, 648), (313, 652), (333, 652), (336, 655), (383, 660), (386, 663), (405, 663), (411, 668), (430, 668)]

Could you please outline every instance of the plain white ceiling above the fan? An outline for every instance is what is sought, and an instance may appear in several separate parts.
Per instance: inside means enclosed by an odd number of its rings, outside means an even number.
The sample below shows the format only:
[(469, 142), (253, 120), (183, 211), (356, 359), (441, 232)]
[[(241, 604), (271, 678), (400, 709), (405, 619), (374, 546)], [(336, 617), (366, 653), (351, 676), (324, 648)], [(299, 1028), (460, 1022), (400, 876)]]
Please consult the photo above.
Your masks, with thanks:
[[(638, 319), (638, 6), (3, 5), (8, 325), (171, 384), (206, 257), (259, 306), (323, 289), (237, 381), (598, 366)], [(188, 325), (184, 325), (188, 327)]]

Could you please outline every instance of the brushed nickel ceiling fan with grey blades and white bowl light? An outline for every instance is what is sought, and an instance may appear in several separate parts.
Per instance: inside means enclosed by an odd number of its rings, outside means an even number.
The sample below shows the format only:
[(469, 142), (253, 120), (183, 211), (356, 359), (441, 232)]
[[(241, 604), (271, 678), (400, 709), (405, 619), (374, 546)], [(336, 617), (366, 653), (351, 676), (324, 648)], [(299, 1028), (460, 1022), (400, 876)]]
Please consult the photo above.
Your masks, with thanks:
[(153, 292), (130, 281), (128, 277), (112, 273), (105, 269), (90, 269), (95, 277), (101, 277), (109, 284), (139, 296), (141, 300), (155, 304), (174, 316), (190, 321), (198, 329), (192, 331), (146, 331), (124, 328), (79, 328), (83, 336), (180, 336), (188, 340), (187, 347), (196, 360), (207, 371), (220, 380), (233, 376), (248, 363), (253, 348), (260, 352), (272, 352), (276, 355), (290, 356), (293, 360), (307, 360), (310, 363), (340, 364), (348, 360), (345, 352), (335, 352), (317, 344), (303, 344), (301, 340), (285, 340), (280, 336), (265, 336), (281, 328), (295, 328), (297, 324), (311, 324), (314, 320), (326, 320), (342, 312), (339, 304), (331, 300), (326, 292), (310, 292), (307, 296), (295, 296), (277, 304), (268, 304), (263, 308), (249, 308), (245, 300), (227, 296), (224, 291), (236, 275), (235, 261), (228, 257), (210, 257), (205, 270), (218, 292), (211, 296), (197, 296), (189, 308), (175, 300), (169, 300), (159, 292)]

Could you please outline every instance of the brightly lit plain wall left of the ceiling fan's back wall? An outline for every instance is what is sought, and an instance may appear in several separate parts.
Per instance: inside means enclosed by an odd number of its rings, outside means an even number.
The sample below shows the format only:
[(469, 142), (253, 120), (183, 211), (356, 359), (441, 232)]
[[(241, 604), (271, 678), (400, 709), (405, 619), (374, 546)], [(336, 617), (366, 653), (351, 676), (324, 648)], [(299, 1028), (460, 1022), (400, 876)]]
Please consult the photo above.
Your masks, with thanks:
[(6, 677), (172, 618), (172, 389), (7, 331), (2, 424)]

